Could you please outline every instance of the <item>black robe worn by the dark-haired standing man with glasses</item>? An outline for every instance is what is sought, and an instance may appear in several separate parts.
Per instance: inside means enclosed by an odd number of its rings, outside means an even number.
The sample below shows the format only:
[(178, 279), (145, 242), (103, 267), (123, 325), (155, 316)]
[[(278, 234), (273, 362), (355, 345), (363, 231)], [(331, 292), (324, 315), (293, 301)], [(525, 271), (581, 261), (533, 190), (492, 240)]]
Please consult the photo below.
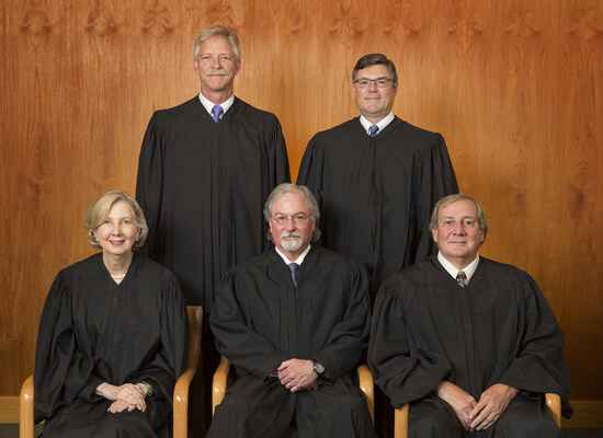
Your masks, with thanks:
[(297, 183), (319, 199), (325, 246), (365, 264), (372, 293), (432, 252), (431, 210), (458, 192), (444, 138), (398, 117), (376, 137), (359, 117), (318, 132)]

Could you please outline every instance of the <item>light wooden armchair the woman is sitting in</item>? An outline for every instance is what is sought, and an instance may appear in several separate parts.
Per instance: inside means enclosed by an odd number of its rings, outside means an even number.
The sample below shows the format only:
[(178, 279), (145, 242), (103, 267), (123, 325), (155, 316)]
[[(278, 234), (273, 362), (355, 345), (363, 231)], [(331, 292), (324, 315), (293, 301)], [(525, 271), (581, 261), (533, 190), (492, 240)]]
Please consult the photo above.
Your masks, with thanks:
[[(173, 393), (173, 438), (186, 438), (189, 423), (189, 388), (195, 376), (201, 348), (201, 307), (189, 306), (189, 362), (175, 382)], [(34, 438), (34, 378), (27, 377), (21, 387), (19, 437)]]

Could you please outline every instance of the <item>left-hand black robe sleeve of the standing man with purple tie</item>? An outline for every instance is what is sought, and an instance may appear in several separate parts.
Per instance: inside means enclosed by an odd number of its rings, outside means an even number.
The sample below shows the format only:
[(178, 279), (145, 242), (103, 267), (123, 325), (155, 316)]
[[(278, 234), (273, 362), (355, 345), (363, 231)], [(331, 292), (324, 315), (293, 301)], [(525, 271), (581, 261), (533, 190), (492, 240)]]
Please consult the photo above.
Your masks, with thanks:
[(163, 254), (158, 230), (163, 191), (163, 136), (158, 127), (158, 114), (155, 113), (145, 132), (136, 177), (136, 200), (145, 211), (149, 226), (149, 234), (144, 251), (153, 260), (161, 260), (158, 258), (158, 255)]

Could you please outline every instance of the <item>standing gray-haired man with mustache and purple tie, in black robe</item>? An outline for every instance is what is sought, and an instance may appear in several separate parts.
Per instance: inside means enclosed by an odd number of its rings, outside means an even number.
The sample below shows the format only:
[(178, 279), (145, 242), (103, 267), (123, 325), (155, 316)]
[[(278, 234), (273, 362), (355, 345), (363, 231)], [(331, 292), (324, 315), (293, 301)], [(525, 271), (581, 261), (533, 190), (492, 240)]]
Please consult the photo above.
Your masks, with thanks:
[[(223, 275), (266, 247), (262, 203), (289, 181), (278, 120), (234, 95), (240, 65), (234, 31), (203, 31), (193, 58), (201, 92), (152, 115), (138, 163), (136, 198), (148, 218), (147, 251), (177, 274), (187, 303), (203, 306), (206, 314)], [(207, 424), (217, 354), (204, 328)]]

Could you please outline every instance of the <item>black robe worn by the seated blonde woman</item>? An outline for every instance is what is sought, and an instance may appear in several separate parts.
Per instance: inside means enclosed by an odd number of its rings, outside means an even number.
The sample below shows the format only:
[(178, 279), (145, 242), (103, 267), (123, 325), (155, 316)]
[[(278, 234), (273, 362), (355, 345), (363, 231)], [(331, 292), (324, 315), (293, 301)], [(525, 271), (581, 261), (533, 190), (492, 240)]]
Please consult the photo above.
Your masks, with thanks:
[[(170, 436), (185, 364), (186, 313), (172, 273), (134, 254), (117, 285), (102, 254), (62, 269), (46, 298), (35, 356), (35, 420), (44, 437)], [(147, 411), (111, 414), (99, 384), (146, 381)]]

